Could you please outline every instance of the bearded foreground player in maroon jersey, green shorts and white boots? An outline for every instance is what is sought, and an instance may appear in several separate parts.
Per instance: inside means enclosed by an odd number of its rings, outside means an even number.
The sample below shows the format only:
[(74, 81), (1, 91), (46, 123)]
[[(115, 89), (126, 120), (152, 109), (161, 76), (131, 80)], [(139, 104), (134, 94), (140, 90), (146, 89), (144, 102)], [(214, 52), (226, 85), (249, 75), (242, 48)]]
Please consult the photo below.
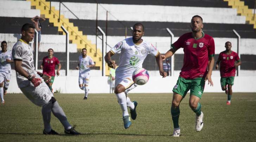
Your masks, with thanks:
[[(203, 128), (203, 112), (199, 100), (204, 91), (205, 81), (213, 86), (211, 75), (214, 66), (215, 44), (211, 36), (204, 34), (203, 19), (195, 15), (191, 19), (192, 32), (179, 37), (173, 43), (172, 49), (163, 55), (164, 59), (171, 57), (178, 49), (183, 48), (184, 63), (177, 84), (173, 88), (171, 114), (174, 125), (173, 136), (180, 136), (179, 105), (190, 90), (189, 106), (196, 113), (196, 131)], [(209, 64), (208, 64), (209, 62)], [(208, 71), (207, 71), (208, 66)]]

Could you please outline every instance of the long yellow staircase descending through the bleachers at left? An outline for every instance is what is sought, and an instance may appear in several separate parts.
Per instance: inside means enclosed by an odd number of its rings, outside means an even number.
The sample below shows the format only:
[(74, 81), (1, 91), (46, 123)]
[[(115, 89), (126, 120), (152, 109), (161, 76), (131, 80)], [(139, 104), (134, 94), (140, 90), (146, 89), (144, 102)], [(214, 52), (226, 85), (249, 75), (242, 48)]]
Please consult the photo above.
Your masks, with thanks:
[[(87, 40), (86, 36), (83, 35), (82, 31), (78, 30), (77, 26), (74, 26), (72, 22), (69, 22), (69, 19), (65, 18), (64, 15), (60, 15), (59, 18), (59, 10), (56, 10), (55, 7), (51, 7), (50, 10), (50, 2), (45, 0), (27, 0), (31, 1), (31, 6), (36, 9), (40, 9), (41, 16), (45, 18), (49, 18), (50, 26), (58, 27), (58, 32), (60, 35), (65, 35), (61, 26), (64, 26), (66, 30), (68, 30), (70, 35), (70, 43), (77, 44), (77, 50), (81, 50), (82, 48), (87, 47), (89, 49), (88, 55), (92, 57), (92, 59), (96, 62), (96, 66), (101, 68), (101, 57), (100, 54), (95, 54), (96, 49), (91, 44), (91, 41)], [(75, 38), (74, 38), (75, 37)], [(93, 49), (94, 48), (94, 49)], [(100, 52), (100, 51), (98, 51)]]

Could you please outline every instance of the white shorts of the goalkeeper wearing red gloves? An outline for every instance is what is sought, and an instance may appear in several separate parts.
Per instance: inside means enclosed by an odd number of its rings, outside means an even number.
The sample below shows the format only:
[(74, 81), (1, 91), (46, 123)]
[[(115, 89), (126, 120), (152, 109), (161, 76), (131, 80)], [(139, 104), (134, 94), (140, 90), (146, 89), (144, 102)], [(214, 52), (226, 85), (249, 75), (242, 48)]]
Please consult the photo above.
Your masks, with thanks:
[(46, 105), (53, 94), (45, 82), (42, 82), (39, 86), (34, 87), (32, 83), (29, 86), (20, 88), (23, 94), (37, 106)]

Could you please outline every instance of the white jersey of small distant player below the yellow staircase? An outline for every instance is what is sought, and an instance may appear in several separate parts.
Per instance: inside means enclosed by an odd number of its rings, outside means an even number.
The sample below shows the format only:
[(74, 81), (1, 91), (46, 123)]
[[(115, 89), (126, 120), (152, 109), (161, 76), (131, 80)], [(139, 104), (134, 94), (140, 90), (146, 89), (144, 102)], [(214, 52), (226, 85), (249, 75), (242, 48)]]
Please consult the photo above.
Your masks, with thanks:
[(79, 77), (84, 77), (83, 74), (90, 71), (90, 67), (88, 65), (94, 65), (94, 62), (90, 56), (79, 56)]

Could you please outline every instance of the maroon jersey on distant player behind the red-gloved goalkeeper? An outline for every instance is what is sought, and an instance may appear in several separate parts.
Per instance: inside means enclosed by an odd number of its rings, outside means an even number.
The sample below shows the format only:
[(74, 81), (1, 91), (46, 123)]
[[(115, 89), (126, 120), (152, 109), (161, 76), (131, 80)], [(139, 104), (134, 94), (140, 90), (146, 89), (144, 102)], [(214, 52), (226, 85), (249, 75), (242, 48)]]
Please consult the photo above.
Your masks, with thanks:
[(49, 74), (49, 76), (55, 76), (55, 67), (59, 64), (59, 60), (56, 57), (48, 58), (48, 56), (43, 58), (43, 73)]

